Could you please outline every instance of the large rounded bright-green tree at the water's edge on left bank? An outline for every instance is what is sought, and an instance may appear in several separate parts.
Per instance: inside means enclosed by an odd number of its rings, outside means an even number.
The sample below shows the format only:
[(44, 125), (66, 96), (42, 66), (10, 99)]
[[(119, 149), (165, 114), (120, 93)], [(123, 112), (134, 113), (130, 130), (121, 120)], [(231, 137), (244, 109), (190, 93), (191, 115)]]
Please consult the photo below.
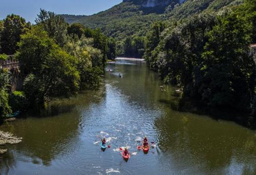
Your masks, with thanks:
[(61, 50), (40, 26), (22, 35), (16, 57), (26, 65), (25, 95), (36, 107), (79, 88), (77, 59)]

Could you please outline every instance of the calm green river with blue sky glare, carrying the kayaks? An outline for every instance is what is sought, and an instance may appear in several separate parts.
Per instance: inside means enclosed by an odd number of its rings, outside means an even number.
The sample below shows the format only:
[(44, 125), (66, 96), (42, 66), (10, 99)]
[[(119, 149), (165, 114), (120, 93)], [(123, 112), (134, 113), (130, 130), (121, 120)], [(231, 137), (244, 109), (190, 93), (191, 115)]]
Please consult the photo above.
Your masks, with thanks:
[[(256, 174), (255, 131), (171, 110), (176, 89), (161, 91), (145, 62), (109, 69), (98, 91), (60, 101), (58, 115), (2, 125), (23, 142), (7, 146), (1, 174)], [(146, 155), (136, 148), (143, 136), (155, 141)], [(104, 152), (103, 137), (111, 145)], [(119, 147), (129, 148), (128, 162)]]

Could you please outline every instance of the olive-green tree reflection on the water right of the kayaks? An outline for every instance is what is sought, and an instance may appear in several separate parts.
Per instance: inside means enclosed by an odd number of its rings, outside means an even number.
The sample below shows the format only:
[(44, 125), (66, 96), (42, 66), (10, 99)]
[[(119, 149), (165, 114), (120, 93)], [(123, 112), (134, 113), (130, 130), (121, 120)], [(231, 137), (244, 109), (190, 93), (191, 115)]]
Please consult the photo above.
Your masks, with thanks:
[(168, 152), (165, 159), (174, 169), (187, 169), (184, 173), (191, 173), (192, 167), (205, 173), (228, 173), (230, 168), (255, 172), (256, 135), (249, 129), (178, 112), (157, 118), (155, 125), (159, 148)]

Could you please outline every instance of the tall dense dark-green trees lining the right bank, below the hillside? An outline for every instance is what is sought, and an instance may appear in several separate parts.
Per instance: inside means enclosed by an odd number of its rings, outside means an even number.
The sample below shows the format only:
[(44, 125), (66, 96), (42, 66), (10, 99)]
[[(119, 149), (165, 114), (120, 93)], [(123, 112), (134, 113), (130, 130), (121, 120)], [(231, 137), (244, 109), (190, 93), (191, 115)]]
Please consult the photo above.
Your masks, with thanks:
[(157, 22), (146, 36), (145, 59), (165, 83), (182, 89), (183, 103), (253, 112), (256, 72), (249, 46), (256, 41), (255, 9), (255, 0), (246, 0), (170, 25)]

